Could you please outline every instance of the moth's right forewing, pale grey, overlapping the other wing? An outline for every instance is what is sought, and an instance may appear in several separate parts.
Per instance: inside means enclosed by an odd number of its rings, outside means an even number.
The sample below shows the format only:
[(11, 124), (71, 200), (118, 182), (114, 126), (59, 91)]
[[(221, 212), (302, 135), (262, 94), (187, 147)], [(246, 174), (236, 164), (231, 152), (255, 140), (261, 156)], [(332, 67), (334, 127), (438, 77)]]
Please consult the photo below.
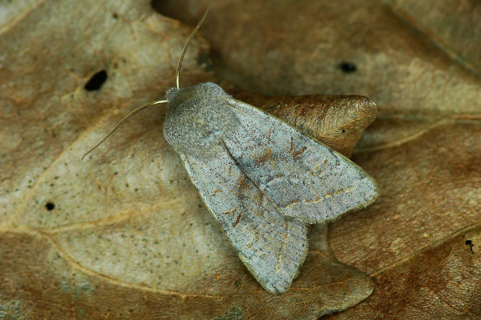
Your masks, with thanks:
[(378, 198), (376, 181), (342, 154), (245, 102), (229, 104), (241, 128), (226, 146), (283, 216), (323, 223)]

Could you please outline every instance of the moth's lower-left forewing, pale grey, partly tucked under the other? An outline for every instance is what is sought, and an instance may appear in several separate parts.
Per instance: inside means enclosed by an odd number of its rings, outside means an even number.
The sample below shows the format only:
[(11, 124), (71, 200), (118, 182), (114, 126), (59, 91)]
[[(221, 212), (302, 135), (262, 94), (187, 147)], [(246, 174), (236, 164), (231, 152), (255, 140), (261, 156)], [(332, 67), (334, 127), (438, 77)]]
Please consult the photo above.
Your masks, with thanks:
[(272, 294), (284, 293), (307, 254), (307, 226), (281, 216), (227, 150), (210, 160), (180, 154), (192, 183), (241, 261)]

